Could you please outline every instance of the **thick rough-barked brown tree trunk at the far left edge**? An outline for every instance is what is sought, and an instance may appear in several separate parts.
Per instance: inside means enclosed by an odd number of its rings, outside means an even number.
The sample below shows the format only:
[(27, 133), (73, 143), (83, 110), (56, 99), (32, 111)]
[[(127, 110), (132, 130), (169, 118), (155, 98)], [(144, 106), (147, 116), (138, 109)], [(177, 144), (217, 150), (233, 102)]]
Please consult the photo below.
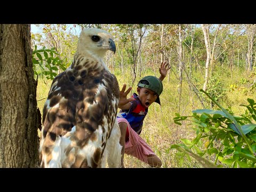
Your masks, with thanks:
[(38, 167), (30, 25), (0, 25), (0, 167)]

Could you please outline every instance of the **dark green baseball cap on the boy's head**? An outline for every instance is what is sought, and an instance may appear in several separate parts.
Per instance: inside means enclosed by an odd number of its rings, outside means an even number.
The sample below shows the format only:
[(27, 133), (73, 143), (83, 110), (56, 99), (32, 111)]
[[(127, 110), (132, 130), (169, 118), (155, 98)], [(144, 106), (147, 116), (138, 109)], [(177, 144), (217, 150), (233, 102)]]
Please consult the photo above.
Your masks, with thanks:
[[(141, 83), (141, 81), (143, 81), (143, 80), (146, 80), (148, 82), (148, 85)], [(147, 89), (150, 89), (151, 91), (154, 91), (156, 94), (158, 94), (158, 97), (155, 102), (157, 102), (157, 103), (159, 103), (159, 105), (161, 105), (159, 95), (161, 95), (161, 93), (163, 91), (163, 83), (159, 78), (157, 78), (155, 76), (150, 76), (150, 75), (143, 77), (142, 79), (140, 79), (137, 86), (145, 87)]]

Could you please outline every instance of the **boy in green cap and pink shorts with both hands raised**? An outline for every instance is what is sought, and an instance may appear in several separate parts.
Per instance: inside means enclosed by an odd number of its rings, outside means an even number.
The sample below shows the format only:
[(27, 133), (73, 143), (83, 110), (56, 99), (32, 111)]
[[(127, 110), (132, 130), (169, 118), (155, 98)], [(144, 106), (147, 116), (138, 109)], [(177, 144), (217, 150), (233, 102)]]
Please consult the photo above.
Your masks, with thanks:
[[(162, 62), (159, 68), (160, 77), (143, 77), (137, 87), (137, 92), (132, 98), (126, 99), (131, 87), (125, 92), (126, 84), (120, 91), (118, 107), (121, 109), (117, 122), (121, 129), (120, 144), (122, 148), (121, 167), (124, 167), (124, 153), (132, 155), (151, 167), (161, 167), (159, 159), (147, 143), (139, 136), (142, 130), (143, 119), (148, 113), (148, 107), (157, 102), (160, 105), (159, 95), (163, 91), (162, 81), (171, 68), (168, 62)], [(127, 102), (129, 101), (129, 102)], [(126, 103), (126, 104), (125, 104)]]

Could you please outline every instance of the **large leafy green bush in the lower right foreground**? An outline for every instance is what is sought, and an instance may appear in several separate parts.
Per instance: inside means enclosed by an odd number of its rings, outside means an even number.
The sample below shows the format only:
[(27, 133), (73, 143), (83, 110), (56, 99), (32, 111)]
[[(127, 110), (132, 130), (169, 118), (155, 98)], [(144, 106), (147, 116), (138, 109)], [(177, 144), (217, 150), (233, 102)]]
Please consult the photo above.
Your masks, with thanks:
[[(203, 90), (201, 90), (203, 91)], [(204, 92), (204, 91), (203, 91)], [(172, 145), (171, 149), (177, 149), (182, 164), (184, 158), (193, 156), (205, 167), (256, 167), (256, 102), (247, 99), (249, 105), (245, 114), (234, 116), (232, 111), (222, 108), (209, 94), (204, 92), (220, 109), (197, 109), (192, 111), (192, 116), (180, 116), (175, 114), (174, 123), (181, 125), (180, 121), (190, 121), (192, 129), (196, 131), (193, 140), (181, 139), (182, 144)], [(202, 159), (195, 157), (198, 155)], [(207, 162), (205, 163), (205, 161)]]

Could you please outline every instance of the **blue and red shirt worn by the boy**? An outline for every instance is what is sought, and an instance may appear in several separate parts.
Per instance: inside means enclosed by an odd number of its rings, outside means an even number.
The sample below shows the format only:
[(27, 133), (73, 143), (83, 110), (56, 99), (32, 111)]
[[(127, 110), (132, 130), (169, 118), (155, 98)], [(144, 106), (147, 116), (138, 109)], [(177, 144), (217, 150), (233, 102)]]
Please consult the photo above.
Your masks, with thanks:
[(143, 120), (148, 113), (148, 108), (145, 108), (141, 105), (141, 102), (136, 93), (133, 93), (132, 98), (135, 100), (131, 101), (130, 109), (121, 109), (119, 115), (122, 115), (130, 123), (132, 129), (140, 134)]

